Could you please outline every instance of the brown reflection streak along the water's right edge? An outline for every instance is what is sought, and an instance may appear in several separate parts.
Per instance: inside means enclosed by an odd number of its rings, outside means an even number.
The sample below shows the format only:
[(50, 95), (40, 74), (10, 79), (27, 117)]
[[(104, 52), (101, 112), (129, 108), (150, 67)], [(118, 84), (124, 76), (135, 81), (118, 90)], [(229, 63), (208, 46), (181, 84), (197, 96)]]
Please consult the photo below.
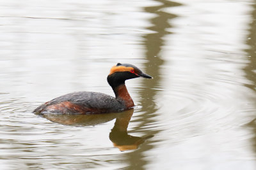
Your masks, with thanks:
[[(247, 87), (252, 89), (254, 92), (256, 92), (256, 1), (254, 4), (252, 4), (253, 11), (251, 13), (252, 15), (252, 22), (250, 24), (250, 34), (248, 35), (248, 41), (247, 44), (249, 45), (249, 49), (246, 50), (249, 57), (249, 63), (244, 68), (244, 71), (246, 73), (246, 78), (248, 80), (252, 81), (252, 84), (246, 84)], [(256, 103), (255, 103), (256, 105)], [(256, 118), (253, 119), (249, 124), (248, 127), (251, 127), (253, 129), (254, 137), (252, 138), (253, 148), (254, 152), (256, 153)]]

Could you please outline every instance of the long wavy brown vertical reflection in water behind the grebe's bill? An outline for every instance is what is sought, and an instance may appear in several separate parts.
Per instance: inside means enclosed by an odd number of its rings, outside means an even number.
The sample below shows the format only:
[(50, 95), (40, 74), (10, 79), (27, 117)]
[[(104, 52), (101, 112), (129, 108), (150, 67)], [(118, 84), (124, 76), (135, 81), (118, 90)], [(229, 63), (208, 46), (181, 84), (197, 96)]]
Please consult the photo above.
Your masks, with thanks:
[[(154, 34), (146, 34), (143, 36), (145, 39), (145, 47), (146, 47), (146, 57), (148, 62), (145, 63), (145, 72), (152, 75), (154, 77), (153, 81), (147, 82), (143, 81), (143, 87), (148, 87), (147, 89), (142, 89), (140, 91), (141, 96), (141, 105), (143, 108), (141, 112), (143, 115), (136, 120), (139, 122), (137, 127), (134, 127), (135, 131), (141, 131), (148, 134), (148, 129), (145, 129), (146, 125), (154, 124), (156, 119), (154, 117), (157, 116), (157, 106), (154, 101), (154, 97), (157, 94), (157, 87), (159, 87), (159, 82), (161, 82), (161, 73), (160, 67), (163, 65), (164, 60), (161, 59), (159, 55), (161, 55), (161, 46), (164, 45), (163, 38), (164, 36), (170, 34), (166, 29), (172, 27), (170, 25), (170, 20), (175, 18), (175, 15), (170, 13), (161, 11), (161, 9), (180, 5), (178, 3), (173, 3), (171, 1), (157, 0), (157, 3), (161, 3), (157, 6), (145, 7), (144, 10), (147, 13), (152, 13), (157, 15), (156, 17), (150, 19), (150, 23), (152, 27), (148, 27), (148, 30), (154, 31)], [(155, 135), (159, 131), (157, 129), (150, 129), (150, 134)], [(151, 150), (154, 146), (147, 144), (141, 147), (140, 151), (137, 150), (135, 152), (127, 153), (127, 160), (130, 160), (131, 169), (144, 169), (145, 165), (147, 165), (147, 160), (143, 159), (143, 152), (147, 150)]]

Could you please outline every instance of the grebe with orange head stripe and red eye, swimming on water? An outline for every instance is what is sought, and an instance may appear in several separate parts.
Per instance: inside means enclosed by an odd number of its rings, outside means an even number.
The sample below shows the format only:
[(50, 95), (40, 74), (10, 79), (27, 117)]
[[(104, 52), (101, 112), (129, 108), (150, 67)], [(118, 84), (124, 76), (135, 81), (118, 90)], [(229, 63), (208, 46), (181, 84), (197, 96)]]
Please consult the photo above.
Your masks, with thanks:
[(125, 80), (132, 78), (152, 78), (132, 64), (116, 64), (111, 67), (108, 83), (115, 97), (100, 92), (73, 92), (57, 97), (36, 108), (34, 113), (86, 114), (107, 113), (127, 110), (134, 106)]

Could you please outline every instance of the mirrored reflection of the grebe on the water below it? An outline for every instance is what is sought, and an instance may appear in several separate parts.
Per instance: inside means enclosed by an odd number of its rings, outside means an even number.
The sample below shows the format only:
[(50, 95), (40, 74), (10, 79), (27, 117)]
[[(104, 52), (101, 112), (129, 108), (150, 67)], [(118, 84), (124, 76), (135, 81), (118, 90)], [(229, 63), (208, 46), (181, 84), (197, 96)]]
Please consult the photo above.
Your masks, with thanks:
[(145, 139), (152, 136), (138, 137), (131, 136), (127, 132), (127, 127), (131, 120), (134, 110), (127, 110), (122, 113), (105, 113), (95, 115), (58, 115), (58, 114), (40, 114), (40, 117), (47, 118), (51, 122), (56, 122), (62, 125), (72, 125), (76, 127), (86, 127), (92, 125), (103, 124), (116, 119), (115, 125), (109, 133), (109, 139), (113, 146), (120, 151), (136, 150)]

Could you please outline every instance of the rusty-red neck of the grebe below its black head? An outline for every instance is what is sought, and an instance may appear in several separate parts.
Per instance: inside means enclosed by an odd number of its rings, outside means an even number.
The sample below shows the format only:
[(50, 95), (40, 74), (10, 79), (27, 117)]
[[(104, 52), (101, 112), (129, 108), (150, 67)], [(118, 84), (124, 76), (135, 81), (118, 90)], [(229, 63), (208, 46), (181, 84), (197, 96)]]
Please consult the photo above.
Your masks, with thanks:
[(134, 106), (132, 98), (128, 90), (126, 89), (125, 83), (118, 85), (118, 87), (113, 88), (113, 91), (115, 92), (116, 99), (124, 103), (124, 105), (127, 108), (131, 108)]

